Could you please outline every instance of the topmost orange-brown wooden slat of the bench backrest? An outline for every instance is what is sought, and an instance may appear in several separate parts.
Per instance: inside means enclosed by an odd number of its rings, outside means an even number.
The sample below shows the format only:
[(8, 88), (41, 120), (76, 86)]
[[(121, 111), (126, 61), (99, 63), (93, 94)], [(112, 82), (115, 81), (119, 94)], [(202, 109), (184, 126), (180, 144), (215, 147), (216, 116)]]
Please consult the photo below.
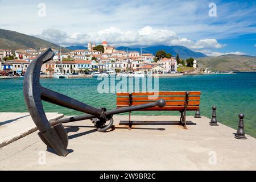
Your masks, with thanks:
[[(196, 95), (200, 96), (201, 92), (200, 91), (188, 91), (189, 96)], [(133, 93), (133, 96), (185, 96), (186, 91), (178, 91), (178, 92), (140, 92), (140, 93)], [(118, 96), (129, 96), (129, 93), (117, 93)]]

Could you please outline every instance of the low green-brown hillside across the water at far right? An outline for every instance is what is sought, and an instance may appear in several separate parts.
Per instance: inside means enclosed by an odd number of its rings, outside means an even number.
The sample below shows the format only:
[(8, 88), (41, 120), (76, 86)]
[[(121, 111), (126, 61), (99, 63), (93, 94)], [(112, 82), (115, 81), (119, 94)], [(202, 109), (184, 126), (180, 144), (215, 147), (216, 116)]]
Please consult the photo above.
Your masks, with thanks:
[(223, 55), (197, 59), (199, 69), (212, 71), (256, 71), (256, 57), (244, 55)]

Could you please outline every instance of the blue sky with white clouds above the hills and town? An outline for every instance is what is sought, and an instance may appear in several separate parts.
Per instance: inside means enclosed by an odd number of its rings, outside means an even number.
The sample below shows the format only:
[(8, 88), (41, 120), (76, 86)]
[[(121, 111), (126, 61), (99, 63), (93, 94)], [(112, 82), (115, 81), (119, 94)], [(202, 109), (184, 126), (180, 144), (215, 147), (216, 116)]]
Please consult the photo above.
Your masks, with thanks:
[(61, 46), (185, 46), (256, 56), (256, 0), (0, 0), (0, 28)]

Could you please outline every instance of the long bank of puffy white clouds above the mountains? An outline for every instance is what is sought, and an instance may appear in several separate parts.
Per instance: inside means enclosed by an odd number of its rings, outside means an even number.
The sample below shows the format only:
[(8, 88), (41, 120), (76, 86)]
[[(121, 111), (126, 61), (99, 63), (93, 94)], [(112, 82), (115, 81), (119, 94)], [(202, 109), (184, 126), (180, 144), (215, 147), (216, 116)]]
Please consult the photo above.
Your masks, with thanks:
[(101, 43), (106, 40), (112, 46), (185, 46), (191, 49), (222, 48), (225, 44), (220, 44), (216, 39), (191, 40), (180, 38), (175, 31), (158, 29), (146, 26), (138, 31), (123, 31), (117, 27), (109, 27), (97, 32), (84, 34), (74, 33), (68, 35), (66, 32), (56, 29), (47, 29), (39, 38), (61, 45), (86, 45), (88, 42)]

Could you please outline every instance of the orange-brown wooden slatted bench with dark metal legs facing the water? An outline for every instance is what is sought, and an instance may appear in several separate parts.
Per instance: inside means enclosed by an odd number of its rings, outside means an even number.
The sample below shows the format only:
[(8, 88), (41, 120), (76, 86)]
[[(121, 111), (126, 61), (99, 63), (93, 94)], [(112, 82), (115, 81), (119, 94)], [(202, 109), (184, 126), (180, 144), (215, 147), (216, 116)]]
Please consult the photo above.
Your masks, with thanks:
[[(200, 96), (200, 91), (117, 93), (117, 108), (146, 104), (148, 102), (155, 102), (162, 98), (166, 101), (165, 107), (151, 107), (143, 110), (180, 111), (181, 114), (179, 122), (184, 126), (184, 129), (187, 129), (186, 111), (199, 110)], [(132, 125), (131, 112), (129, 112), (129, 129), (131, 129)]]

